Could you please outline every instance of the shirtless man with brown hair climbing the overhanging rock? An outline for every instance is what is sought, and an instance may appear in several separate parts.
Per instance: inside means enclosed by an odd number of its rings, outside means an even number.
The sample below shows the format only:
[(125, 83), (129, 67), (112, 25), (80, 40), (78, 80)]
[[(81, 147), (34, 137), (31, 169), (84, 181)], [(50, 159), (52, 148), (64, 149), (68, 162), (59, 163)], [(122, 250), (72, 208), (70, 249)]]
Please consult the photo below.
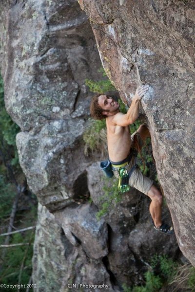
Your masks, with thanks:
[(139, 103), (148, 89), (148, 85), (142, 85), (137, 88), (126, 114), (119, 111), (119, 104), (115, 99), (103, 94), (96, 95), (93, 98), (90, 112), (94, 119), (106, 119), (108, 153), (114, 175), (119, 178), (121, 165), (127, 169), (129, 185), (135, 187), (152, 200), (149, 210), (155, 229), (170, 234), (173, 233), (173, 227), (161, 220), (162, 195), (152, 180), (143, 176), (138, 167), (133, 167), (136, 163), (135, 157), (131, 155), (133, 148), (138, 146), (140, 149), (145, 139), (150, 137), (150, 132), (145, 125), (141, 125), (133, 135), (131, 135), (129, 128), (129, 125), (133, 124), (138, 118)]

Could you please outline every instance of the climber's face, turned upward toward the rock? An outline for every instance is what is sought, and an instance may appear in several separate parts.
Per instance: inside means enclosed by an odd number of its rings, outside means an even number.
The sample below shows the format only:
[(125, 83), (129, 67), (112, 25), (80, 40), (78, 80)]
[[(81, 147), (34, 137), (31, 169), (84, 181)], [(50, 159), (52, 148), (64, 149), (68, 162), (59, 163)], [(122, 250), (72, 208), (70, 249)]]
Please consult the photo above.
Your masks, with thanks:
[[(98, 97), (98, 105), (102, 110), (105, 110), (103, 114), (110, 115), (109, 113), (114, 113), (119, 109), (119, 104), (112, 97), (107, 95), (99, 95)], [(108, 111), (109, 110), (109, 111)]]

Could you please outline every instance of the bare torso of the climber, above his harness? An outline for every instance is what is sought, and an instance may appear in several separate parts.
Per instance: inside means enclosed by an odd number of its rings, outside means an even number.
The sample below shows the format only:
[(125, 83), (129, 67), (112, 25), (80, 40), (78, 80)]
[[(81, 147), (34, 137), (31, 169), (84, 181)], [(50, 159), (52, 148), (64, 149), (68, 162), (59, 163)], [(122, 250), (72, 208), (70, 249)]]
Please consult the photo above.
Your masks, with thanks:
[(113, 116), (106, 118), (107, 141), (109, 159), (119, 162), (125, 159), (131, 148), (131, 134), (129, 126), (122, 127), (113, 123)]

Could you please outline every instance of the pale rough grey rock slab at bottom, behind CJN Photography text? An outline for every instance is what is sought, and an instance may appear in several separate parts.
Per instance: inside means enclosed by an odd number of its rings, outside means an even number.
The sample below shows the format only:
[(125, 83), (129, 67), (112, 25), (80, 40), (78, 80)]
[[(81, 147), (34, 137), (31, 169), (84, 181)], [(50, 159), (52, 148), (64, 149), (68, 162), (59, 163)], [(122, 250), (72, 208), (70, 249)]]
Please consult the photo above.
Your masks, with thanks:
[[(81, 208), (86, 209), (85, 206)], [(66, 212), (63, 213), (66, 214)], [(82, 210), (80, 213), (82, 213)], [(58, 220), (62, 219), (62, 215), (61, 213), (57, 216)], [(80, 217), (81, 214), (79, 214), (79, 219)], [(64, 223), (65, 220), (62, 219), (62, 221)], [(76, 225), (76, 222), (74, 224)], [(99, 222), (98, 226), (100, 225)], [(89, 232), (86, 232), (86, 234), (89, 234)], [(96, 233), (91, 236), (96, 238)], [(88, 251), (91, 247), (92, 252), (93, 243), (92, 240)], [(96, 252), (98, 250), (95, 250)], [(100, 251), (100, 253), (102, 252)], [(94, 255), (99, 257), (98, 254)], [(110, 275), (102, 259), (94, 259), (93, 255), (92, 258), (89, 258), (81, 245), (74, 246), (56, 222), (54, 215), (41, 204), (39, 204), (38, 209), (34, 242), (33, 283), (36, 284), (35, 291), (37, 292), (75, 292), (75, 288), (78, 288), (78, 291), (91, 292), (91, 289), (93, 289), (93, 291), (99, 292), (100, 289), (94, 288), (93, 285), (102, 285), (105, 289), (107, 287), (106, 291), (108, 292), (119, 292), (117, 288), (113, 288)], [(80, 285), (83, 285), (83, 287)]]

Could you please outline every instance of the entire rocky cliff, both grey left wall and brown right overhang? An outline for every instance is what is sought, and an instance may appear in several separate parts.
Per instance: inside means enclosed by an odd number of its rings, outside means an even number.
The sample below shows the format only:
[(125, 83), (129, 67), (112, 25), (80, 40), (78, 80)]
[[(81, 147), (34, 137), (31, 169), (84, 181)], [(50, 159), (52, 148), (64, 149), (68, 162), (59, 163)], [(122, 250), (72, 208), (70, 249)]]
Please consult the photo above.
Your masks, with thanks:
[[(129, 102), (138, 83), (150, 85), (142, 106), (158, 175), (180, 247), (193, 262), (194, 4), (80, 0), (80, 5), (123, 100)], [(0, 22), (6, 108), (21, 128), (20, 164), (40, 202), (36, 291), (75, 291), (71, 285), (83, 283), (88, 286), (80, 291), (108, 285), (106, 291), (119, 292), (124, 283), (142, 282), (156, 250), (177, 254), (176, 237), (156, 233), (149, 199), (135, 190), (97, 219), (105, 181), (98, 152), (84, 156), (82, 134), (92, 95), (85, 78), (99, 79), (101, 63), (85, 12), (76, 0), (1, 0)], [(163, 216), (168, 217), (166, 208)]]

